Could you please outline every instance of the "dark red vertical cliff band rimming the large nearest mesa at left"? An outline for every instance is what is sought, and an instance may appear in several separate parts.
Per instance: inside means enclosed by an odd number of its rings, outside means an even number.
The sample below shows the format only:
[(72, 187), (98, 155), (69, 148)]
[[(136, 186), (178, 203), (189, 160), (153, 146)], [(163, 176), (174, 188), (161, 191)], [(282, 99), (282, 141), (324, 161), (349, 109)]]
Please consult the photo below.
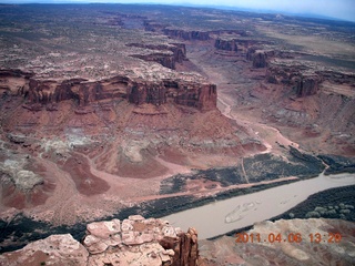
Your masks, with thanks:
[[(182, 80), (151, 82), (120, 75), (90, 82), (83, 79), (61, 82), (43, 81), (29, 79), (24, 73), (11, 73), (11, 75), (17, 75), (17, 79), (23, 83), (22, 86), (13, 89), (12, 94), (22, 95), (27, 100), (23, 108), (31, 111), (40, 111), (44, 106), (48, 111), (55, 111), (55, 104), (67, 100), (84, 108), (108, 99), (128, 99), (130, 103), (154, 105), (161, 105), (171, 100), (176, 104), (203, 111), (216, 109), (216, 86), (214, 84)], [(11, 89), (7, 91), (10, 92)]]

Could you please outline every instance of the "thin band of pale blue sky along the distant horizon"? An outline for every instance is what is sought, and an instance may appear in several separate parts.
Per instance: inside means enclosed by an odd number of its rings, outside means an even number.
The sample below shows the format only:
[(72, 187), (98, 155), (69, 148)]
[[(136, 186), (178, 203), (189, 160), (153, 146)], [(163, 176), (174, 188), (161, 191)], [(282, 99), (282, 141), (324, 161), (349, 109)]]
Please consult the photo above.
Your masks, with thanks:
[[(285, 16), (307, 17), (355, 22), (355, 1), (353, 0), (220, 0), (219, 4), (206, 0), (0, 0), (4, 4), (31, 3), (118, 3), (118, 4), (166, 4), (181, 7), (200, 7), (222, 10), (240, 10), (260, 13), (281, 13)], [(322, 7), (320, 9), (318, 7)]]

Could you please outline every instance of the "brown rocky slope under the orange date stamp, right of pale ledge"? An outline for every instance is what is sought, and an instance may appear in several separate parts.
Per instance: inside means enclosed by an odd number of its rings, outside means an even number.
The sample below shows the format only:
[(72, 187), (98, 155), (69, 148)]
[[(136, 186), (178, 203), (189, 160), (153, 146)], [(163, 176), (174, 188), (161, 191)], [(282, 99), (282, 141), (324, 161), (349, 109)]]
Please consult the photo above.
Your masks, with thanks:
[[(354, 223), (338, 219), (281, 219), (261, 222), (252, 229), (241, 232), (248, 238), (236, 243), (236, 236), (216, 241), (200, 241), (200, 255), (204, 265), (353, 265)], [(272, 241), (270, 235), (281, 235)], [(298, 234), (297, 241), (290, 235)], [(320, 234), (315, 241), (310, 234)], [(341, 236), (339, 241), (332, 235)], [(253, 235), (254, 242), (251, 241)], [(256, 239), (260, 236), (260, 241)], [(247, 241), (246, 241), (247, 239)], [(271, 241), (270, 241), (271, 239)], [(290, 241), (288, 241), (290, 239)]]

